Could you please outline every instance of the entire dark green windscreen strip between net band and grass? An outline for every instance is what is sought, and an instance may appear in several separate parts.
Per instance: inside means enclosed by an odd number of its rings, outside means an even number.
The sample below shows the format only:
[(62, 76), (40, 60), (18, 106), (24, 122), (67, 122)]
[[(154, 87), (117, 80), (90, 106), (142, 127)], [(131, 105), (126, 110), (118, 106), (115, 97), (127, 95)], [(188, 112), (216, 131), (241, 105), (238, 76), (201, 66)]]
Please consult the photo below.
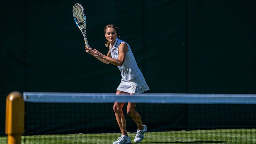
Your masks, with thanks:
[[(26, 102), (25, 134), (71, 134), (120, 132), (113, 103)], [(127, 131), (137, 125), (123, 111)], [(245, 104), (148, 104), (136, 111), (151, 132), (198, 129), (255, 128), (256, 105)]]

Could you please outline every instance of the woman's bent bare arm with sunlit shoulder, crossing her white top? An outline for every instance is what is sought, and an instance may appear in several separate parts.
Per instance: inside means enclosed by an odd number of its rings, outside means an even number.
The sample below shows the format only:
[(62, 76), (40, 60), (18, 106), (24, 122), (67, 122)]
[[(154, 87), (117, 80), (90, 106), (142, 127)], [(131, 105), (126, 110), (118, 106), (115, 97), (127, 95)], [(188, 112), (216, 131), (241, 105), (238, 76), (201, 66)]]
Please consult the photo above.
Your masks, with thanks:
[(119, 49), (119, 55), (118, 55), (118, 59), (114, 59), (111, 57), (108, 57), (106, 55), (103, 55), (102, 53), (100, 53), (98, 50), (94, 49), (92, 52), (95, 54), (94, 57), (98, 57), (100, 59), (106, 60), (109, 63), (116, 65), (116, 66), (122, 66), (125, 60), (125, 54), (126, 51), (128, 50), (128, 46), (125, 43), (121, 43), (118, 47)]

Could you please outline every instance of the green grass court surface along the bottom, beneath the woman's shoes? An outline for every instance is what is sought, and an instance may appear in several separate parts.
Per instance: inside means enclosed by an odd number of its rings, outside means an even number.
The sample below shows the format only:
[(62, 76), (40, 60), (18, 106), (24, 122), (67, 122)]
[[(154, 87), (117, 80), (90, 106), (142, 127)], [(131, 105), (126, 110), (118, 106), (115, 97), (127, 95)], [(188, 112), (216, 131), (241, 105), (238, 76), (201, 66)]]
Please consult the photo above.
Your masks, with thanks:
[[(70, 134), (70, 135), (36, 135), (22, 136), (22, 143), (83, 143), (83, 144), (112, 144), (120, 133), (108, 134)], [(135, 133), (129, 133), (133, 142)], [(0, 137), (0, 144), (7, 143), (7, 137)], [(140, 143), (256, 143), (256, 129), (228, 129), (228, 130), (193, 130), (147, 132)]]

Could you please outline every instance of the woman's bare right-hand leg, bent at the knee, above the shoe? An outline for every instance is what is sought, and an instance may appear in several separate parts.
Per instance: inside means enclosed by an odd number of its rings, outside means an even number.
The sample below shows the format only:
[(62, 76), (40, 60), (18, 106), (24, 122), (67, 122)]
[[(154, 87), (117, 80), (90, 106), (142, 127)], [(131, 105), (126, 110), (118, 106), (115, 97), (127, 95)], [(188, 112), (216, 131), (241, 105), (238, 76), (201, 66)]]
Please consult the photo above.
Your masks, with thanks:
[[(130, 93), (130, 95), (132, 95), (132, 93)], [(138, 125), (138, 130), (143, 130), (144, 127), (141, 122), (140, 114), (137, 111), (135, 111), (135, 107), (136, 103), (128, 102), (127, 114), (130, 115), (134, 122)]]

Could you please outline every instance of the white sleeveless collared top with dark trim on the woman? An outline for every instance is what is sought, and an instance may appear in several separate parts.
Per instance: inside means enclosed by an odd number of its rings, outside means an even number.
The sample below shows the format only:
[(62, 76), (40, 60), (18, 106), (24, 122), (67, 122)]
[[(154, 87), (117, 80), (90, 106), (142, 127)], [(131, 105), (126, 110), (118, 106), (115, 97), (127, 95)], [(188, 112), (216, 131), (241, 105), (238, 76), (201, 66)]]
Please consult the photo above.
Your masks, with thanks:
[[(116, 38), (114, 45), (113, 46), (110, 45), (109, 51), (111, 53), (112, 58), (118, 59), (118, 55), (119, 55), (118, 47), (121, 43), (127, 44), (121, 39)], [(135, 61), (135, 58), (133, 56), (133, 53), (131, 51), (129, 44), (127, 44), (127, 46), (128, 46), (128, 50), (125, 55), (124, 63), (122, 66), (117, 66), (117, 67), (121, 71), (122, 79), (131, 80), (139, 76), (141, 74), (141, 71), (137, 65), (137, 62)]]

